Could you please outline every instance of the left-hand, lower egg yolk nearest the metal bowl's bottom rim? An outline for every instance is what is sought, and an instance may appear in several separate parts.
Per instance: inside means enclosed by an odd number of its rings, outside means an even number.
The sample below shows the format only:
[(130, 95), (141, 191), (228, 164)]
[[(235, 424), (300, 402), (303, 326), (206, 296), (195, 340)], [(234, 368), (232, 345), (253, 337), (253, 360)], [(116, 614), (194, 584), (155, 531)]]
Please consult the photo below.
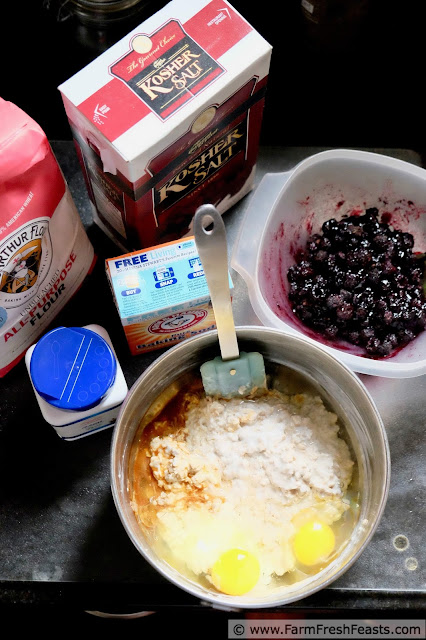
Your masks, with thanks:
[(259, 561), (244, 549), (230, 549), (214, 563), (211, 578), (218, 591), (230, 596), (247, 593), (259, 580)]

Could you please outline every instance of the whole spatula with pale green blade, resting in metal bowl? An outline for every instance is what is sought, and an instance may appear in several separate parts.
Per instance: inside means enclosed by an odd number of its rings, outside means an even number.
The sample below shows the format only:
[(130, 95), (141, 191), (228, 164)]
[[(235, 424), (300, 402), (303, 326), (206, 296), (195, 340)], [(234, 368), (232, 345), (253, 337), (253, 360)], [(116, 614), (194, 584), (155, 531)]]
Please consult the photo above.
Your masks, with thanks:
[(199, 207), (194, 216), (198, 256), (206, 276), (221, 356), (200, 367), (208, 396), (244, 397), (266, 389), (265, 364), (258, 352), (239, 351), (229, 289), (228, 251), (225, 224), (211, 204)]

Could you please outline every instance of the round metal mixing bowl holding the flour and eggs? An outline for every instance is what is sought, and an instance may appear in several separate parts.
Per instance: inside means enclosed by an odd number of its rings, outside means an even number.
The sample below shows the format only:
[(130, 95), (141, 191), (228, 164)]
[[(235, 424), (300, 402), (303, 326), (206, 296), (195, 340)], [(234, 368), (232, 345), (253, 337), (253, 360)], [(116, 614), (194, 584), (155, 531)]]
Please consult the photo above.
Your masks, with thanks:
[(198, 372), (203, 362), (218, 355), (216, 331), (194, 336), (169, 349), (135, 382), (114, 428), (111, 486), (118, 514), (130, 540), (161, 575), (203, 601), (225, 607), (258, 609), (281, 606), (309, 596), (336, 580), (355, 562), (383, 513), (389, 490), (390, 456), (386, 432), (372, 398), (357, 375), (334, 356), (304, 338), (267, 327), (237, 327), (237, 336), (242, 351), (263, 354), (266, 371), (273, 379), (289, 379), (290, 382), (293, 378), (303, 379), (312, 385), (345, 427), (348, 444), (357, 460), (361, 506), (358, 521), (343, 551), (318, 574), (292, 586), (275, 588), (258, 597), (250, 593), (228, 596), (201, 586), (170, 566), (153, 549), (149, 537), (137, 523), (129, 497), (129, 455), (135, 433), (154, 400), (171, 383), (184, 380), (188, 372)]

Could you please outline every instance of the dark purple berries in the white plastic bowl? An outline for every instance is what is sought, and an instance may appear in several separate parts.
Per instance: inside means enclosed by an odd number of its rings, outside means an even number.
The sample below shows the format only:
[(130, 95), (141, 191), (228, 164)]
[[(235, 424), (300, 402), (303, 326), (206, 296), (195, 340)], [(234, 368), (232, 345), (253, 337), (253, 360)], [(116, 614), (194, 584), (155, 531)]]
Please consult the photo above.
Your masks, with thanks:
[(377, 207), (326, 220), (287, 271), (293, 312), (329, 340), (390, 356), (426, 327), (423, 270), (411, 233)]

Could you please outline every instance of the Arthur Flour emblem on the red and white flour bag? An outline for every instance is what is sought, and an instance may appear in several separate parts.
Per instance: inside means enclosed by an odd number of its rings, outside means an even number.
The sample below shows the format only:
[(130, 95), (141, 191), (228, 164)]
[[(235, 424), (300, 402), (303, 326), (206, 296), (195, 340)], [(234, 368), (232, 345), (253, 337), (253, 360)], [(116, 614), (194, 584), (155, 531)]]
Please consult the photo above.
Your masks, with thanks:
[(31, 222), (0, 245), (0, 292), (21, 294), (37, 282), (47, 221)]

